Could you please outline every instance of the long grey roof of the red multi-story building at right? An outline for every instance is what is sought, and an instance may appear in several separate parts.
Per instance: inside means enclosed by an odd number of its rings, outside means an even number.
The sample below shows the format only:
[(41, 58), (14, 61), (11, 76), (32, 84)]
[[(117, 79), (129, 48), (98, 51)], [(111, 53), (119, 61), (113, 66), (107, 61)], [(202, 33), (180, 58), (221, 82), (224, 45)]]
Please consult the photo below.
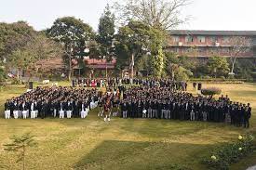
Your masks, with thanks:
[(170, 30), (172, 35), (229, 35), (229, 36), (256, 36), (256, 31), (205, 31), (205, 30)]

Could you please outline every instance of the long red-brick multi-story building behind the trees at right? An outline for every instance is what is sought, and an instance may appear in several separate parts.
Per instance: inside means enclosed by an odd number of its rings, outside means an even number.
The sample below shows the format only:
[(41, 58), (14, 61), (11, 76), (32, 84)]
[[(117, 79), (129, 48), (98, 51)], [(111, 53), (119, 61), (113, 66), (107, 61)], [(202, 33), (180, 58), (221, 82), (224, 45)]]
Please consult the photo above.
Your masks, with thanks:
[[(167, 50), (175, 52), (179, 56), (208, 59), (218, 55), (229, 58), (234, 55), (234, 45), (232, 44), (234, 42), (232, 40), (235, 37), (240, 37), (241, 39), (248, 39), (250, 47), (240, 52), (237, 58), (256, 59), (256, 31), (173, 30), (169, 33)], [(246, 46), (248, 45), (245, 44)]]

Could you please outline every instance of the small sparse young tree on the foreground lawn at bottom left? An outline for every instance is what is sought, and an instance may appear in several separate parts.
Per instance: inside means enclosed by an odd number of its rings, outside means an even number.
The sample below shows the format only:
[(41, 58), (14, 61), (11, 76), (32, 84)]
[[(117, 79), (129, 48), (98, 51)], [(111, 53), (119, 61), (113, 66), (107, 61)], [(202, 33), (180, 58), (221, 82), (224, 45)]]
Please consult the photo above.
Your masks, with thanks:
[(18, 152), (17, 163), (22, 162), (22, 169), (25, 169), (25, 157), (26, 151), (29, 147), (34, 147), (37, 143), (34, 140), (34, 136), (30, 133), (26, 133), (20, 137), (10, 137), (11, 143), (5, 144), (5, 150)]

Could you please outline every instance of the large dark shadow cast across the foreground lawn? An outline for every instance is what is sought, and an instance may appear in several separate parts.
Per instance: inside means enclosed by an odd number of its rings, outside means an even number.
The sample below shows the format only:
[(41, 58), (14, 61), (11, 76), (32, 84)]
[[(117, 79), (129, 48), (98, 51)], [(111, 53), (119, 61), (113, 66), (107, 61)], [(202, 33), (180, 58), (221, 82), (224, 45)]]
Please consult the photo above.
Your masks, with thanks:
[[(74, 169), (200, 168), (211, 145), (105, 140), (74, 164)], [(199, 154), (200, 153), (200, 154)]]

